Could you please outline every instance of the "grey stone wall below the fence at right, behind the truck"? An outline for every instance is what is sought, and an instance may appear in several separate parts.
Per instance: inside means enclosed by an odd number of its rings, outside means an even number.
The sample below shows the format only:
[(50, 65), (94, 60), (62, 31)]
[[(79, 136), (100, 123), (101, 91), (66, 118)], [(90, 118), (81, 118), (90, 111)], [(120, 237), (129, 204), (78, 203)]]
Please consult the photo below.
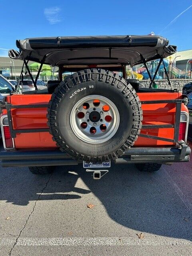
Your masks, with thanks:
[[(183, 86), (192, 82), (192, 79), (170, 79), (171, 88), (166, 79), (155, 80), (155, 82), (161, 89), (179, 89), (179, 91), (182, 92)], [(140, 87), (149, 87), (149, 84), (150, 80), (140, 80)]]

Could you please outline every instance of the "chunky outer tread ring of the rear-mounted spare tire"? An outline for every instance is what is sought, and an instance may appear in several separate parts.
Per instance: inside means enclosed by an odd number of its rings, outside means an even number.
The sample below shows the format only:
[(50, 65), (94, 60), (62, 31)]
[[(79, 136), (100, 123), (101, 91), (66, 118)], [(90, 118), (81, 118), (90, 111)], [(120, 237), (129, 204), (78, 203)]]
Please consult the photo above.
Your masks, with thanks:
[[(74, 152), (70, 146), (67, 145), (66, 142), (62, 139), (56, 121), (58, 103), (62, 100), (64, 94), (77, 84), (94, 80), (104, 82), (106, 83), (106, 86), (115, 86), (115, 88), (123, 94), (124, 98), (128, 100), (133, 111), (131, 131), (132, 134), (128, 136), (126, 141), (124, 141), (124, 143), (121, 144), (121, 146), (115, 150), (115, 152), (105, 156), (97, 157), (86, 156), (80, 152)], [(142, 127), (142, 108), (136, 91), (124, 78), (108, 70), (91, 68), (78, 71), (71, 76), (68, 76), (64, 81), (60, 82), (52, 94), (51, 100), (49, 102), (47, 118), (47, 124), (50, 128), (52, 139), (56, 142), (56, 146), (58, 146), (62, 152), (70, 154), (73, 159), (78, 161), (85, 160), (97, 162), (100, 160), (105, 161), (118, 158), (118, 156), (122, 156), (124, 154), (125, 150), (134, 145), (134, 142), (137, 140), (138, 135), (140, 134), (140, 129)]]

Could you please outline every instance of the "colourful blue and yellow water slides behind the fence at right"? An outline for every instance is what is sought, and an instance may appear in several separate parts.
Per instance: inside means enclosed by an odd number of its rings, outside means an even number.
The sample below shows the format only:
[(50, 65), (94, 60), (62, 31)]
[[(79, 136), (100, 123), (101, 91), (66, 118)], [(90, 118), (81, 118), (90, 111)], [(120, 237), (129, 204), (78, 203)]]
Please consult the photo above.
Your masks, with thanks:
[[(154, 76), (154, 74), (155, 74), (155, 70), (157, 69), (159, 61), (160, 61), (160, 59), (147, 63), (149, 72), (152, 76)], [(169, 60), (164, 59), (164, 64), (163, 63), (160, 64), (160, 68), (158, 70), (158, 73), (156, 74), (155, 79), (165, 79), (166, 78), (165, 77), (166, 75), (164, 72), (164, 65), (169, 74), (169, 78), (178, 78), (179, 79), (179, 78), (188, 78), (190, 76), (191, 70), (181, 70), (176, 67), (176, 63), (172, 63), (172, 62), (169, 62)], [(128, 69), (127, 76), (129, 78), (132, 78), (132, 76), (133, 76), (132, 74), (134, 75), (135, 79), (139, 79), (139, 80), (149, 79), (148, 72), (144, 65), (134, 66), (132, 71), (130, 69)]]

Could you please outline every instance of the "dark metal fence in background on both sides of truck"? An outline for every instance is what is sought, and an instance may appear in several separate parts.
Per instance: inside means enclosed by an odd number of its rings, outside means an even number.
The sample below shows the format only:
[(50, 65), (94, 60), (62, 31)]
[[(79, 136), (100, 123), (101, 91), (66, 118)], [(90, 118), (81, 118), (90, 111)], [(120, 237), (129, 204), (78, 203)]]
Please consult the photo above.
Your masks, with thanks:
[[(168, 76), (170, 79), (192, 79), (192, 63), (171, 63), (165, 61), (166, 70), (168, 72)], [(153, 76), (155, 70), (158, 66), (158, 61), (155, 62), (148, 62), (147, 63), (148, 69), (150, 74)], [(38, 66), (29, 67), (33, 78), (36, 77), (38, 72)], [(0, 67), (0, 74), (2, 74), (7, 79), (11, 80), (19, 80), (20, 73), (22, 67)], [(30, 79), (29, 74), (27, 73), (26, 69), (23, 69), (24, 72), (24, 79)], [(132, 72), (133, 71), (133, 72)], [(149, 79), (148, 73), (146, 68), (143, 64), (134, 66), (133, 69), (130, 69), (130, 66), (127, 66), (126, 73), (128, 78), (136, 78), (140, 80)], [(54, 69), (54, 67), (50, 67), (44, 65), (42, 68), (42, 72), (40, 72), (39, 76), (40, 80), (47, 82), (48, 80), (58, 80), (58, 67)], [(164, 65), (161, 64), (156, 75), (156, 79), (166, 79), (166, 74), (164, 71)]]

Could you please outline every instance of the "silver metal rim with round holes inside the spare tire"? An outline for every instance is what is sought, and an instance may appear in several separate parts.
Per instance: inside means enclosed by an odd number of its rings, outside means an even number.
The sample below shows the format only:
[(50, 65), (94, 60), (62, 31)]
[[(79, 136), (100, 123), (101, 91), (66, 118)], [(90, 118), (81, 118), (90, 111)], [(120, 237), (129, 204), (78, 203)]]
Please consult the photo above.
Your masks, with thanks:
[(72, 131), (80, 140), (90, 144), (108, 141), (116, 134), (119, 123), (116, 105), (100, 95), (82, 98), (70, 113)]

